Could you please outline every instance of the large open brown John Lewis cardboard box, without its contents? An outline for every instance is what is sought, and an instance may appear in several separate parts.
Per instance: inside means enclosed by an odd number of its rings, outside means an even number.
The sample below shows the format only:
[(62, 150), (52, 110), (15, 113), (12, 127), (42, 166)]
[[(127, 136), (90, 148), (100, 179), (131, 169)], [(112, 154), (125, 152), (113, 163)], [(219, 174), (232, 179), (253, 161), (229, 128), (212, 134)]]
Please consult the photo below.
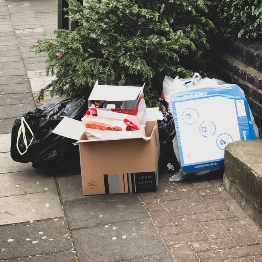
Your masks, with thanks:
[(145, 136), (136, 138), (87, 139), (80, 121), (65, 118), (60, 122), (53, 132), (77, 140), (79, 146), (84, 195), (156, 191), (160, 155), (157, 111), (148, 109)]

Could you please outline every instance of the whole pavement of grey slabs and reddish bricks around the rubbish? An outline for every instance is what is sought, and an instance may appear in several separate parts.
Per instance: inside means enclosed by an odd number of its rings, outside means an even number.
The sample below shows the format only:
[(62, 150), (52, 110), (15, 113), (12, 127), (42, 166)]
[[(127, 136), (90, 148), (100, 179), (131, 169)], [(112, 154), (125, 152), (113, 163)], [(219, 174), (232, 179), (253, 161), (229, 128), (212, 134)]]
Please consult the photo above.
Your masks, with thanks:
[(14, 162), (13, 122), (52, 79), (29, 47), (54, 36), (57, 3), (0, 0), (0, 25), (0, 261), (262, 261), (261, 229), (225, 192), (222, 172), (171, 183), (165, 170), (157, 192), (83, 196), (79, 172)]

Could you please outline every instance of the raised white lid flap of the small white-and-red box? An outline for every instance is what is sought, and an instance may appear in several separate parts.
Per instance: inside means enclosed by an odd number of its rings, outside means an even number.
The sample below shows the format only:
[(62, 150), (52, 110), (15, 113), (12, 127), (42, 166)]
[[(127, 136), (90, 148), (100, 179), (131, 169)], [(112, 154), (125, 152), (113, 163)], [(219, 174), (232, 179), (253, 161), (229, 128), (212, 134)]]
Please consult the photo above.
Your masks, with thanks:
[(135, 100), (144, 86), (111, 86), (95, 84), (88, 100), (127, 101)]

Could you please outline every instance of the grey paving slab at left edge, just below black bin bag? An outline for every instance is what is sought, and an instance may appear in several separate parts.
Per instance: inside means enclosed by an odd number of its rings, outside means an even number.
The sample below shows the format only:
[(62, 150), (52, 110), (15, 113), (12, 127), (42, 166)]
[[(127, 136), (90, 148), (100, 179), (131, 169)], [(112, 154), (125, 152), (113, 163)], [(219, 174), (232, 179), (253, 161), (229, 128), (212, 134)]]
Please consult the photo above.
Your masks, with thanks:
[(37, 174), (36, 170), (0, 175), (0, 197), (41, 192), (57, 193), (53, 177)]

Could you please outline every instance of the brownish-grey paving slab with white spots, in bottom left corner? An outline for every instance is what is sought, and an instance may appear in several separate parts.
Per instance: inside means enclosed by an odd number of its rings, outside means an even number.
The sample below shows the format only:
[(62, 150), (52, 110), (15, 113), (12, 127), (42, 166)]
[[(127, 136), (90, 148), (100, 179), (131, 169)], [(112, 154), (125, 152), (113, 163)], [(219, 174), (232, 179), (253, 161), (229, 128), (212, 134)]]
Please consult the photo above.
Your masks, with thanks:
[(5, 225), (1, 226), (0, 230), (0, 259), (42, 255), (72, 249), (70, 234), (63, 218)]

